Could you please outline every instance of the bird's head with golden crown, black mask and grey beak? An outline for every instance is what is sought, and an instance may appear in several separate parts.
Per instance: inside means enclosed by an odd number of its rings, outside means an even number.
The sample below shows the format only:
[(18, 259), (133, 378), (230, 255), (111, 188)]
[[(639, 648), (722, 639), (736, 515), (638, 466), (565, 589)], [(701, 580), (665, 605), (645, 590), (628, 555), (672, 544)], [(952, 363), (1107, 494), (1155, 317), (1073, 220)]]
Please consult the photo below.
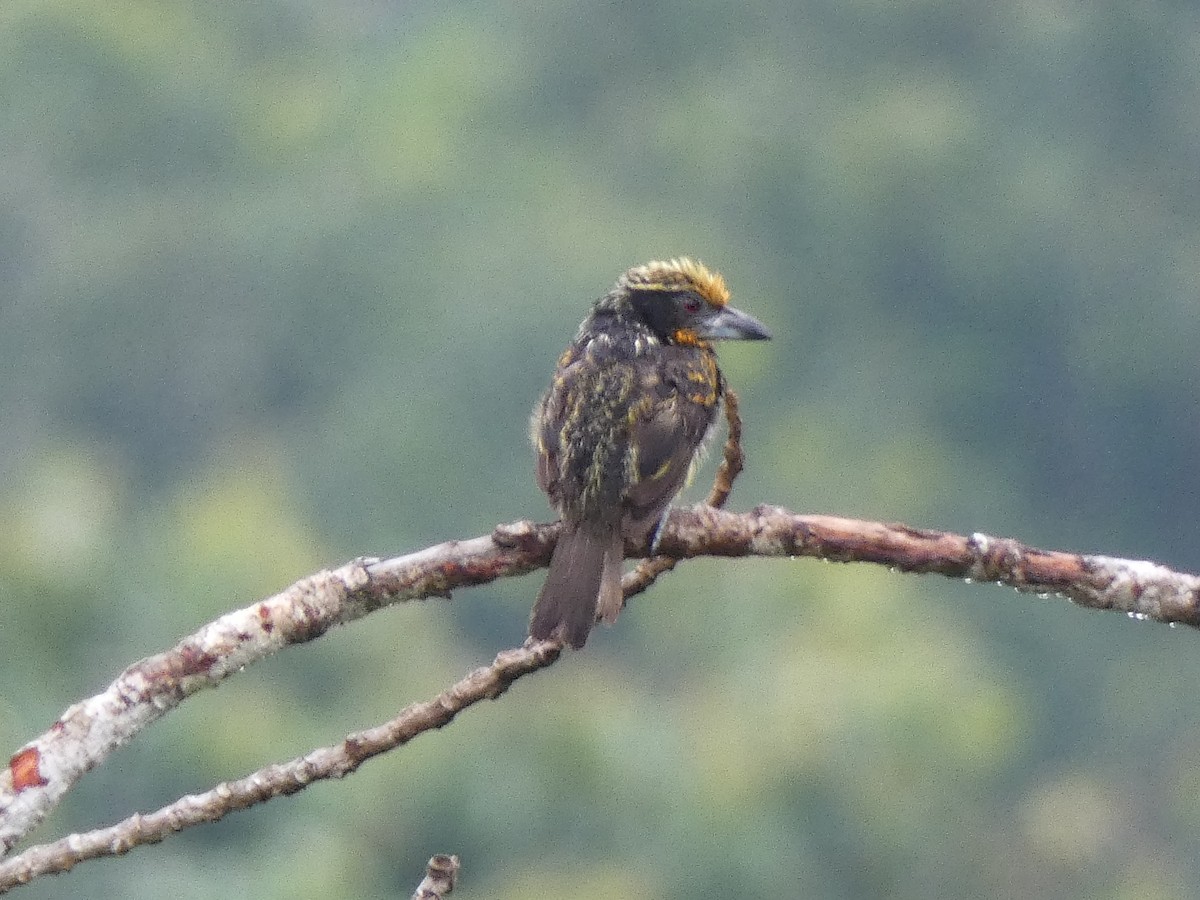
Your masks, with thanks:
[(624, 307), (622, 313), (644, 324), (662, 343), (770, 338), (761, 322), (730, 306), (730, 289), (719, 272), (686, 257), (634, 266), (617, 280), (601, 308), (606, 302)]

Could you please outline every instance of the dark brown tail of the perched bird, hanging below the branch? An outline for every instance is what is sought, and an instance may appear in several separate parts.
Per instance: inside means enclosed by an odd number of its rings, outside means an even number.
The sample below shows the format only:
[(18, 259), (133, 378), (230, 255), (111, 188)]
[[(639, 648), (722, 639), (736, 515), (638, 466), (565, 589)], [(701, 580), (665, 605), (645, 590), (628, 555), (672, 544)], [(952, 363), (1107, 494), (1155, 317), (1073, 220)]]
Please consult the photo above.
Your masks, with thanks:
[(623, 554), (624, 542), (616, 528), (589, 530), (564, 523), (546, 583), (533, 605), (529, 636), (565, 641), (580, 649), (587, 643), (598, 611), (605, 622), (616, 620), (620, 612)]

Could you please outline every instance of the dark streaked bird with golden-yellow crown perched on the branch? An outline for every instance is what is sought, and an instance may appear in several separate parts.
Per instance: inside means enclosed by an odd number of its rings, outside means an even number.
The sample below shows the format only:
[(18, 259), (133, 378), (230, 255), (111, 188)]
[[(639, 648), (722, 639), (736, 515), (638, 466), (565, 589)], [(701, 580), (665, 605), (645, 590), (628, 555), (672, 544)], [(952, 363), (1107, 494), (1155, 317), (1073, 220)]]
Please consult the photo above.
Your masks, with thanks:
[(656, 538), (725, 391), (713, 341), (770, 334), (686, 257), (625, 271), (594, 302), (534, 407), (539, 487), (562, 526), (529, 636), (581, 649), (623, 606), (625, 541)]

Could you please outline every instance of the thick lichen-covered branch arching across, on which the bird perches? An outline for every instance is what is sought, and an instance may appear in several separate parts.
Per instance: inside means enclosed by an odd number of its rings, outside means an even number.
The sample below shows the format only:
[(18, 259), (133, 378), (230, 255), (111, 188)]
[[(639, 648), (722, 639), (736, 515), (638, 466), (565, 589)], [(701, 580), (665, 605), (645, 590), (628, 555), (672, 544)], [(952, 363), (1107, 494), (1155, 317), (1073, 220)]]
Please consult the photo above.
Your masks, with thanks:
[[(388, 602), (448, 595), (454, 588), (532, 571), (548, 562), (556, 536), (554, 524), (516, 522), (497, 527), (490, 536), (439, 544), (396, 559), (358, 560), (232, 612), (170, 650), (134, 664), (106, 691), (67, 709), (0, 769), (2, 846), (11, 847), (84, 772), (190, 694), (287, 643), (311, 640)], [(644, 556), (648, 547), (626, 550)], [(1090, 608), (1200, 626), (1195, 575), (983, 534), (804, 516), (776, 506), (737, 514), (701, 505), (672, 510), (659, 552), (676, 559), (761, 556), (877, 563), (1061, 594)]]

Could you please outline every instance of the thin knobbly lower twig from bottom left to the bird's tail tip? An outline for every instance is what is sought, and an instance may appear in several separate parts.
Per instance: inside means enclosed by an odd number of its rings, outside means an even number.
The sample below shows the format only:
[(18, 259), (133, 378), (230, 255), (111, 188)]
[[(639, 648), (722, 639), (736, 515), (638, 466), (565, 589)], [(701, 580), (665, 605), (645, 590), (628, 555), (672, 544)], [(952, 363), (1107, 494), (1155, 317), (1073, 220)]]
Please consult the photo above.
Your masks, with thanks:
[(108, 828), (30, 847), (0, 864), (0, 893), (40, 875), (65, 872), (84, 859), (119, 856), (134, 847), (157, 844), (184, 828), (216, 822), (235, 810), (298, 793), (313, 781), (344, 778), (371, 757), (449, 725), (467, 707), (481, 700), (496, 700), (517, 678), (551, 665), (560, 652), (553, 641), (505, 650), (491, 666), (476, 668), (432, 700), (414, 703), (391, 721), (349, 734), (340, 744), (268, 766), (204, 793), (182, 797), (155, 812), (137, 814)]

